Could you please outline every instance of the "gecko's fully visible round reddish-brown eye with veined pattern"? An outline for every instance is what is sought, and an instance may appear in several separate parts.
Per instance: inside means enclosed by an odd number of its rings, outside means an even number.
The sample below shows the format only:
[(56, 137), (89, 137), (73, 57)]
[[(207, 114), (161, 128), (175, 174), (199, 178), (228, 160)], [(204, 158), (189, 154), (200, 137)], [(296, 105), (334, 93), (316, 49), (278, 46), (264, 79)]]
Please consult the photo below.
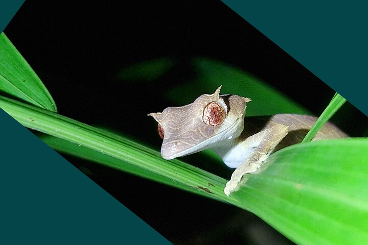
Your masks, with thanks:
[[(222, 124), (226, 117), (226, 104), (223, 101), (214, 101), (204, 107), (203, 122), (207, 125), (217, 126)], [(223, 104), (223, 105), (222, 105)], [(225, 109), (224, 109), (225, 107)]]

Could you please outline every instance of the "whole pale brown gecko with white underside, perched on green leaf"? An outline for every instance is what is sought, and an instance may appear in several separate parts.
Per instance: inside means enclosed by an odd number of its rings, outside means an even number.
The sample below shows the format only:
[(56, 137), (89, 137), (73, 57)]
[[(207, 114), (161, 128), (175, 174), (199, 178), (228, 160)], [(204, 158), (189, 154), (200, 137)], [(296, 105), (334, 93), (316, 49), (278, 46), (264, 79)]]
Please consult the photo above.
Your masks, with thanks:
[[(271, 153), (300, 143), (317, 118), (300, 114), (244, 117), (251, 100), (235, 94), (220, 95), (220, 90), (221, 86), (189, 105), (168, 107), (149, 116), (158, 123), (164, 159), (213, 149), (228, 167), (235, 168), (224, 187), (229, 196), (245, 183), (243, 176), (254, 173)], [(343, 137), (348, 135), (327, 122), (313, 140)]]

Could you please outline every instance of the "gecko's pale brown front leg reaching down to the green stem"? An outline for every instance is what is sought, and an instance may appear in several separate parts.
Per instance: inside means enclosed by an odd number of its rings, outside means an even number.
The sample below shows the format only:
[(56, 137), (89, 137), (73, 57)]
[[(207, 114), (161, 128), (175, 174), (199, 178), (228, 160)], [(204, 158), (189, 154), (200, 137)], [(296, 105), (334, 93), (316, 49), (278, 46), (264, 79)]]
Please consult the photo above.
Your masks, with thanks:
[(227, 196), (239, 188), (243, 175), (253, 173), (266, 160), (273, 149), (289, 133), (287, 126), (283, 124), (274, 125), (259, 133), (260, 143), (256, 146), (244, 162), (235, 169), (231, 179), (226, 183), (224, 192)]

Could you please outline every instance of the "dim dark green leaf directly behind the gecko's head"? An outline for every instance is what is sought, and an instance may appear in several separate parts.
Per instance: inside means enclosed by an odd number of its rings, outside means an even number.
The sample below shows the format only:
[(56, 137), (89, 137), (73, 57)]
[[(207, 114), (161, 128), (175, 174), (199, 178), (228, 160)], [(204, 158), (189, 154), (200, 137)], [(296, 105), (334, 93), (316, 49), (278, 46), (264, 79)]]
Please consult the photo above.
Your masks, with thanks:
[(192, 103), (199, 94), (213, 93), (222, 85), (222, 94), (235, 93), (252, 99), (247, 106), (246, 116), (311, 114), (277, 89), (239, 68), (206, 58), (195, 58), (192, 63), (196, 79), (167, 93), (169, 99), (177, 105)]

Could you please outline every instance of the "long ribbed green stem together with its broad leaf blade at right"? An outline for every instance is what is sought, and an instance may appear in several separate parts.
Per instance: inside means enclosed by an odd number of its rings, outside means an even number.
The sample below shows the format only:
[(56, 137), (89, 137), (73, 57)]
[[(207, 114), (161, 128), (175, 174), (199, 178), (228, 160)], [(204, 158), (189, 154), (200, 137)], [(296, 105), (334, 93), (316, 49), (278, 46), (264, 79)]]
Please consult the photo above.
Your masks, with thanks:
[(368, 243), (366, 138), (278, 151), (227, 198), (226, 180), (129, 139), (6, 97), (0, 107), (22, 125), (63, 139), (43, 138), (59, 151), (249, 210), (297, 243)]

